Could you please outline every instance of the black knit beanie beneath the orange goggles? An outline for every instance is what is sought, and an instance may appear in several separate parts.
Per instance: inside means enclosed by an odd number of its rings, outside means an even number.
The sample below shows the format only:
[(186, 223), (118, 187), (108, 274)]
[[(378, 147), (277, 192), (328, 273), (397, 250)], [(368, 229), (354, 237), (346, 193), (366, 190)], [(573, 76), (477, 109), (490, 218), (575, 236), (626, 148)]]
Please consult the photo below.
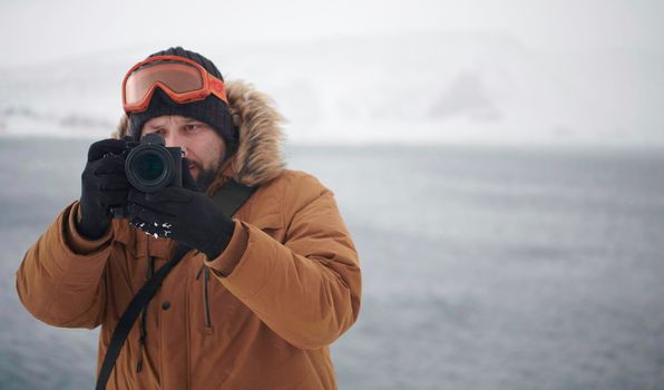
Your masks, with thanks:
[[(188, 58), (198, 62), (214, 77), (222, 81), (224, 80), (222, 74), (211, 60), (197, 52), (185, 50), (179, 46), (155, 52), (149, 57), (155, 56), (179, 56)], [(173, 101), (160, 88), (157, 88), (150, 99), (147, 110), (129, 114), (129, 131), (131, 136), (135, 139), (140, 138), (143, 125), (145, 125), (147, 120), (162, 115), (180, 115), (201, 120), (214, 128), (222, 138), (224, 138), (227, 156), (237, 150), (237, 144), (240, 143), (237, 128), (233, 125), (233, 118), (231, 117), (226, 104), (214, 95), (209, 95), (203, 100), (180, 105)]]

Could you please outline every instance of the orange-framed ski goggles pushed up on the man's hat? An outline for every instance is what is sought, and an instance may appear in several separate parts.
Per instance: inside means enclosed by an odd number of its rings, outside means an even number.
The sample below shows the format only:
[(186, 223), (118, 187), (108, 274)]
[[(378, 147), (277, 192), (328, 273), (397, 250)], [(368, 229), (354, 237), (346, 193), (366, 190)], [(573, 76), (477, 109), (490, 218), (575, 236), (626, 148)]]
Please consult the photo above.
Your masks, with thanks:
[(177, 104), (203, 100), (209, 95), (228, 104), (224, 81), (198, 62), (179, 56), (155, 56), (136, 64), (125, 75), (125, 113), (145, 111), (157, 87)]

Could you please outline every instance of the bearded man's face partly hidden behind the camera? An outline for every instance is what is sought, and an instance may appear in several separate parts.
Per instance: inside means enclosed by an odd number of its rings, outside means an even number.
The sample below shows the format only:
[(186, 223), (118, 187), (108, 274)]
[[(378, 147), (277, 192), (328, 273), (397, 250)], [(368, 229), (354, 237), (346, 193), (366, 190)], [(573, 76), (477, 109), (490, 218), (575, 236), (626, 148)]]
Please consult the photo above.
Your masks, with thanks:
[(203, 189), (209, 186), (226, 156), (226, 144), (215, 129), (196, 119), (164, 115), (145, 123), (140, 136), (149, 133), (160, 134), (167, 147), (184, 148), (192, 177)]

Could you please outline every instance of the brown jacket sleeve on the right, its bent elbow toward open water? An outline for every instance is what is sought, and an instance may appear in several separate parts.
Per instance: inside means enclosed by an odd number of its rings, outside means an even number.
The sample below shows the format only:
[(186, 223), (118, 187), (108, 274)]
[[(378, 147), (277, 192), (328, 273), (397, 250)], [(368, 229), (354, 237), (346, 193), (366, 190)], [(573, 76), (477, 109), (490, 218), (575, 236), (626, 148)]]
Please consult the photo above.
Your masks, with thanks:
[[(285, 215), (292, 216), (285, 222), (283, 244), (235, 220), (227, 251), (207, 264), (275, 333), (297, 348), (318, 349), (355, 322), (361, 275), (334, 194), (311, 175), (299, 177), (289, 185), (283, 203)], [(224, 277), (223, 271), (234, 261)]]

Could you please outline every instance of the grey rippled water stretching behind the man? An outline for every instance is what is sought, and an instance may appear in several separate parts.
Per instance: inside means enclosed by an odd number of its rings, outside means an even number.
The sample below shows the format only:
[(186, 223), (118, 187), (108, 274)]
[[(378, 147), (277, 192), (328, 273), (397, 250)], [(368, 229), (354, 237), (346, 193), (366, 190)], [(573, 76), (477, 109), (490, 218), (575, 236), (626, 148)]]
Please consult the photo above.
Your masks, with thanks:
[[(0, 140), (1, 389), (91, 388), (97, 331), (18, 301), (89, 142)], [(290, 147), (361, 256), (341, 389), (664, 389), (663, 150)]]

